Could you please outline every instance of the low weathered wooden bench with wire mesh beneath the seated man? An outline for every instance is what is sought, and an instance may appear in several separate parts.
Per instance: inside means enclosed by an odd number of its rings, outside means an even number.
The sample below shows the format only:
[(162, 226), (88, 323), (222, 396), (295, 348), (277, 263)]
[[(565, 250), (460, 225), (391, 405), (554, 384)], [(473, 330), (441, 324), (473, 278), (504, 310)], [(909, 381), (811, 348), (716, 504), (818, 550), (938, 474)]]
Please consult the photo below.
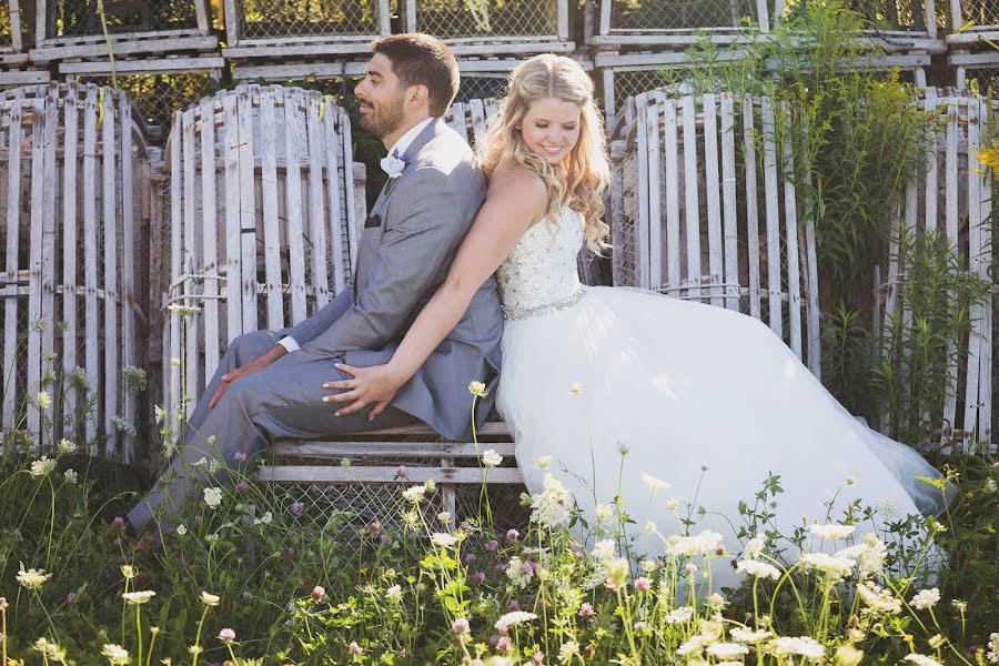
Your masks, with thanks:
[[(494, 524), (523, 525), (518, 506), (523, 477), (509, 430), (503, 422), (487, 422), (476, 435), (477, 445), (452, 442), (427, 425), (411, 425), (323, 441), (280, 440), (271, 448), (271, 464), (260, 467), (258, 478), (297, 486), (296, 500), (317, 493), (326, 503), (317, 507), (322, 514), (350, 511), (362, 525), (394, 522), (406, 505), (402, 492), (427, 481), (437, 485), (434, 498), (424, 505), (431, 519), (440, 512), (456, 522), (475, 517), (477, 506), (473, 511), (463, 497), (477, 501), (485, 480)], [(491, 448), (503, 456), (500, 466), (482, 464), (482, 453)]]

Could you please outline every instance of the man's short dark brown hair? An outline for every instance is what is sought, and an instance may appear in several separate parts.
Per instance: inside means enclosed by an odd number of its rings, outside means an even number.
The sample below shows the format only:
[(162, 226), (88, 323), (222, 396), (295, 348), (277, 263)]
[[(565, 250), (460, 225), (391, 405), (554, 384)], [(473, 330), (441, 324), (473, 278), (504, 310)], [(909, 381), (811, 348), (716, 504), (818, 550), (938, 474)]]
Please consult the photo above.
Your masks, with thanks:
[(407, 32), (374, 40), (371, 51), (392, 61), (392, 71), (403, 85), (426, 85), (431, 115), (447, 113), (457, 94), (460, 75), (457, 60), (444, 42), (422, 32)]

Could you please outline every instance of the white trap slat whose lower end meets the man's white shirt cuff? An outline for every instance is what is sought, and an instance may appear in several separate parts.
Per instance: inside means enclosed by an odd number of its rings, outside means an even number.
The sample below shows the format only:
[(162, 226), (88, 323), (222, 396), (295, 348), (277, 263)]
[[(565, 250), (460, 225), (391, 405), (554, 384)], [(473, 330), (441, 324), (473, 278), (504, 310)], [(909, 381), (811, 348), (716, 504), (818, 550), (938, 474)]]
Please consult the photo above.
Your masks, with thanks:
[[(270, 92), (270, 91), (268, 91)], [(282, 112), (284, 110), (282, 109)], [(274, 95), (260, 95), (260, 186), (264, 232), (264, 294), (268, 299), (268, 329), (284, 327), (281, 289), (281, 226), (278, 214), (278, 158)]]

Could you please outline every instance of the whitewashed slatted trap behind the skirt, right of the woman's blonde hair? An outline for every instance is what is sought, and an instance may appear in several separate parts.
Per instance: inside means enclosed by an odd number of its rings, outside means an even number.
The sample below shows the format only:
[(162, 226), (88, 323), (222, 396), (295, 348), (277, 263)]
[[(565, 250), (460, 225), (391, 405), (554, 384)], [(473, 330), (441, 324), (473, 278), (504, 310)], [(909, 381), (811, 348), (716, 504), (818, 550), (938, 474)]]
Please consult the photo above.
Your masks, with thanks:
[(652, 91), (629, 113), (612, 142), (614, 283), (748, 313), (819, 376), (815, 226), (770, 100)]

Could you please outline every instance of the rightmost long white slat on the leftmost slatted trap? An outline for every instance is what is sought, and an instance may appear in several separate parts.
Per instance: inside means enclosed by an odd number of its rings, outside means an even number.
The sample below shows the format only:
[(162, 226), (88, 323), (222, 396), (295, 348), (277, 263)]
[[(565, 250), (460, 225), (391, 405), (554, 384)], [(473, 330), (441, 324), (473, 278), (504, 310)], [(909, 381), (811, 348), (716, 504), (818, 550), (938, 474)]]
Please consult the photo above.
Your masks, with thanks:
[[(67, 101), (67, 105), (72, 105)], [(132, 104), (124, 92), (118, 97), (121, 132), (121, 364), (135, 365), (135, 155), (132, 154)], [(141, 178), (141, 175), (140, 175)], [(121, 375), (119, 375), (121, 376)], [(135, 392), (123, 384), (122, 416), (130, 423), (135, 418)], [(130, 432), (122, 433), (122, 462), (132, 462), (134, 441)]]

